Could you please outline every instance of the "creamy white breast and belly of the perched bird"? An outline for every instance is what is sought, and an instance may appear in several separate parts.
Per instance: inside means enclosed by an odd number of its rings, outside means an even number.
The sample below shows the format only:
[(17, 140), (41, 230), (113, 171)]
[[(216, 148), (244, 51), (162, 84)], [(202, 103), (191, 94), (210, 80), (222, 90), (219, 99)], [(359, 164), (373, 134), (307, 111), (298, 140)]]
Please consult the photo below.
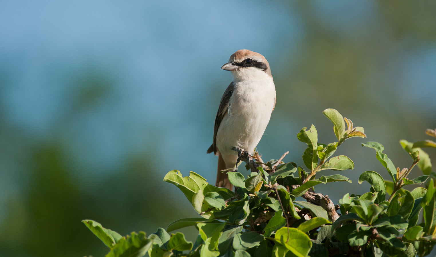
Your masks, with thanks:
[[(263, 71), (234, 79), (228, 113), (223, 117), (217, 133), (217, 148), (227, 168), (232, 168), (239, 147), (253, 154), (269, 123), (274, 108), (276, 89), (272, 77)], [(248, 80), (247, 77), (250, 79)]]

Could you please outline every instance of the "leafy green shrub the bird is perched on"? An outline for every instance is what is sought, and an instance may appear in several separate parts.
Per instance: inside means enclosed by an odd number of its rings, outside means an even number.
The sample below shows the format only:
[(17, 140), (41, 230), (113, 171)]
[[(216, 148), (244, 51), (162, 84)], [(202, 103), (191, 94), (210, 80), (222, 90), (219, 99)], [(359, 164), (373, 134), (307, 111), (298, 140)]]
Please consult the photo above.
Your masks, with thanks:
[[(362, 144), (375, 150), (392, 180), (365, 171), (358, 183), (368, 181), (370, 191), (363, 195), (346, 194), (339, 205), (334, 205), (328, 196), (315, 193), (313, 187), (351, 180), (339, 174), (318, 178), (316, 175), (322, 170), (353, 169), (350, 158), (332, 156), (345, 140), (366, 135), (362, 127), (353, 127), (351, 120), (343, 118), (337, 110), (324, 110), (324, 115), (334, 124), (337, 142), (318, 143), (315, 126), (309, 130), (304, 127), (297, 137), (308, 146), (303, 153), (307, 170), (293, 162), (282, 163), (284, 156), (265, 164), (256, 155), (255, 166), (254, 162), (246, 161), (247, 170), (252, 170), (247, 178), (238, 172), (228, 172), (235, 192), (208, 184), (192, 171), (183, 177), (180, 171), (172, 170), (164, 181), (179, 188), (201, 217), (176, 220), (166, 230), (159, 228), (148, 237), (144, 232), (123, 237), (95, 221), (83, 223), (109, 247), (107, 257), (140, 257), (146, 253), (150, 257), (428, 255), (436, 243), (434, 180), (429, 180), (426, 188), (409, 191), (404, 187), (423, 184), (433, 175), (429, 156), (419, 147), (436, 148), (436, 143), (401, 140), (401, 146), (412, 157), (411, 167), (402, 170), (383, 154), (381, 144)], [(434, 130), (427, 130), (426, 134), (436, 137)], [(424, 175), (409, 180), (415, 165)], [(390, 194), (388, 200), (386, 194)], [(423, 219), (418, 223), (421, 210)], [(188, 226), (199, 231), (195, 242), (187, 241), (182, 233), (168, 234)]]

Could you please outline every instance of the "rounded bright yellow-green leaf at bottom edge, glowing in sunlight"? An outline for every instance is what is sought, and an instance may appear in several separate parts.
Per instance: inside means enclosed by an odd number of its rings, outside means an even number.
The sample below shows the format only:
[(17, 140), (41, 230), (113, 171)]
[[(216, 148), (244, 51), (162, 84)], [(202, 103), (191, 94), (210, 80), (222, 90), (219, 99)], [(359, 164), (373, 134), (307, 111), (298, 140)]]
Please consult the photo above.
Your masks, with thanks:
[(282, 227), (277, 230), (274, 240), (276, 243), (286, 247), (297, 257), (306, 257), (312, 247), (310, 238), (304, 232), (294, 227)]

